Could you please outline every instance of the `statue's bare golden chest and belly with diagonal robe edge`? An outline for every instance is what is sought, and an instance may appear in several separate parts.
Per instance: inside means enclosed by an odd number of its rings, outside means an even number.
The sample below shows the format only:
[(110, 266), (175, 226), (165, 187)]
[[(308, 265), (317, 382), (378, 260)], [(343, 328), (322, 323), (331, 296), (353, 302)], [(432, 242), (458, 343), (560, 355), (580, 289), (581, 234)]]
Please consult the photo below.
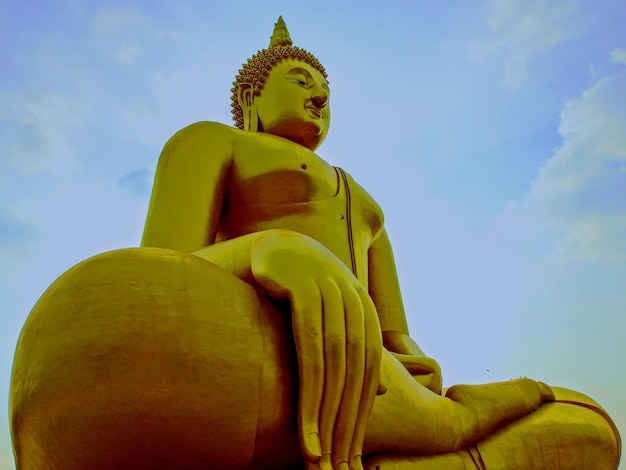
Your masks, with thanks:
[[(217, 241), (268, 229), (325, 245), (366, 283), (367, 250), (383, 214), (352, 178), (312, 151), (267, 134), (236, 132)], [(354, 265), (353, 265), (354, 260)]]

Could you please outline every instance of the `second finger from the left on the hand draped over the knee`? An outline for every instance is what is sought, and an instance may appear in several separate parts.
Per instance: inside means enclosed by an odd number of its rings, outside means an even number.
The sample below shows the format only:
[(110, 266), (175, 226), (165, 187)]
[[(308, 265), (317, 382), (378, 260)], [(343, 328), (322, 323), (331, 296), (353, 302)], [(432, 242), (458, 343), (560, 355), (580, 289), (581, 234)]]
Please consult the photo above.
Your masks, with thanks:
[[(330, 279), (319, 283), (324, 328), (324, 396), (320, 412), (322, 468), (331, 465), (333, 431), (346, 382), (346, 326), (343, 296)], [(332, 468), (332, 467), (331, 467)]]

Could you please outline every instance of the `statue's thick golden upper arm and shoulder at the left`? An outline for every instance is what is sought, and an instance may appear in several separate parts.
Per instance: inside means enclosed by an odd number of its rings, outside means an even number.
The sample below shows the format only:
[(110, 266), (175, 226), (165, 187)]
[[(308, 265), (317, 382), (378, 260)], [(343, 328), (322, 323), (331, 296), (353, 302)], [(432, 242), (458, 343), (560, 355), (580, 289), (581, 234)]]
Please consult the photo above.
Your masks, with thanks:
[(142, 246), (192, 252), (215, 240), (232, 163), (232, 129), (199, 122), (165, 145)]

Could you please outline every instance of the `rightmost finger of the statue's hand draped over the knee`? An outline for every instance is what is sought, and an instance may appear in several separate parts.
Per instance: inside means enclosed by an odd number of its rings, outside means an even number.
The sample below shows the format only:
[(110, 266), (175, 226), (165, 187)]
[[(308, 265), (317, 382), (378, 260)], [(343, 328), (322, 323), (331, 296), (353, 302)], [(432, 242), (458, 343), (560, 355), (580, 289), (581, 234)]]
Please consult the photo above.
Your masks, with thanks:
[(363, 380), (363, 394), (361, 396), (357, 422), (354, 428), (354, 437), (352, 438), (350, 449), (350, 468), (352, 470), (363, 469), (361, 461), (363, 442), (365, 441), (367, 421), (372, 411), (376, 392), (379, 387), (383, 348), (383, 339), (376, 307), (367, 292), (360, 292), (360, 296), (363, 304), (365, 323), (365, 377)]

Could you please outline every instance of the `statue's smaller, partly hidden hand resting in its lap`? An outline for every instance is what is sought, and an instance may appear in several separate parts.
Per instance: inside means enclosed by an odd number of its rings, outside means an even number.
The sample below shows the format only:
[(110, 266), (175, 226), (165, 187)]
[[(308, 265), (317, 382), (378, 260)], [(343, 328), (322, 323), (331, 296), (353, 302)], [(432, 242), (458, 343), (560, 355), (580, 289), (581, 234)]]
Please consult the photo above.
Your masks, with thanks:
[(384, 331), (383, 345), (417, 382), (441, 395), (443, 377), (439, 364), (426, 356), (409, 335), (401, 331)]

